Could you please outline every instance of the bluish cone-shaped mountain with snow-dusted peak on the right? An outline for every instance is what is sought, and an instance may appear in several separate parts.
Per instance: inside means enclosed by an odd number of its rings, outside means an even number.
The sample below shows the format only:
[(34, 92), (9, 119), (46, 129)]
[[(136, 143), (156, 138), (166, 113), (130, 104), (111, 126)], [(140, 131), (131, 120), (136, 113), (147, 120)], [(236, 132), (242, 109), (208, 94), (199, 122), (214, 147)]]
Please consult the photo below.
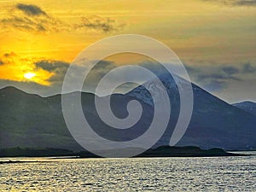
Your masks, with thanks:
[[(177, 85), (169, 74), (160, 75), (160, 80), (166, 86), (172, 106), (171, 121), (166, 133), (161, 137), (158, 146), (165, 145), (172, 135), (172, 128), (177, 122), (179, 113), (179, 95)], [(183, 84), (183, 79), (179, 79)], [(161, 89), (157, 90), (154, 79), (147, 82), (148, 87), (153, 87), (155, 92), (161, 94)], [(177, 145), (193, 145), (201, 148), (225, 148), (225, 149), (250, 149), (256, 147), (256, 118), (250, 113), (246, 113), (239, 108), (222, 101), (216, 96), (196, 84), (192, 84), (194, 94), (194, 111), (189, 123), (189, 127), (183, 138)], [(148, 91), (143, 86), (128, 93), (129, 96), (147, 102), (153, 106), (152, 99)], [(253, 138), (254, 137), (254, 138)]]

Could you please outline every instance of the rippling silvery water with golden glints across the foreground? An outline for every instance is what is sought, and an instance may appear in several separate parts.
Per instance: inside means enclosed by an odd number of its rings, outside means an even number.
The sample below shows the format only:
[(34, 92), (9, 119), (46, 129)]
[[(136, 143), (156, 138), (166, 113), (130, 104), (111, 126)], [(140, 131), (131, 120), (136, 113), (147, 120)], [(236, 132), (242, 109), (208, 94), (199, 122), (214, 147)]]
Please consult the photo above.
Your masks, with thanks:
[(256, 156), (47, 159), (0, 165), (0, 191), (256, 191)]

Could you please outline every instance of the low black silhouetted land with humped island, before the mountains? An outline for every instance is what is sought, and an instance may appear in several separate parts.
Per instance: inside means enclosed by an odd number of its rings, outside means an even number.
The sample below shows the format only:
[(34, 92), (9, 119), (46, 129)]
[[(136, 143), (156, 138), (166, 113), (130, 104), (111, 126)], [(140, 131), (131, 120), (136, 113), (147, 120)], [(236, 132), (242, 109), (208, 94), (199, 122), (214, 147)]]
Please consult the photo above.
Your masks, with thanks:
[[(113, 153), (113, 152), (111, 152)], [(161, 146), (151, 148), (137, 157), (204, 157), (204, 156), (244, 156), (245, 154), (232, 154), (221, 148), (201, 149), (198, 147), (170, 147)], [(61, 148), (3, 148), (0, 149), (0, 157), (49, 157), (49, 156), (73, 156), (74, 158), (100, 158), (88, 151), (73, 152)], [(114, 153), (113, 153), (114, 156)], [(6, 161), (5, 161), (6, 162)], [(31, 161), (30, 161), (31, 162)]]

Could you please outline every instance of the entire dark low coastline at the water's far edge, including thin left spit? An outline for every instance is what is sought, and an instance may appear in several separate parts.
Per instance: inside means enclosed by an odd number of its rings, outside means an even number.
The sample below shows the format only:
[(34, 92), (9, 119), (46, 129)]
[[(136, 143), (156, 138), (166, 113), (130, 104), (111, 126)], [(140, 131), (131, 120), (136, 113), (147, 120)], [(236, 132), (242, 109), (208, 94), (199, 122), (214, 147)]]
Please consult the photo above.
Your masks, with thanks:
[[(129, 148), (127, 148), (129, 150)], [(44, 148), (44, 149), (35, 149), (35, 148), (9, 148), (9, 149), (0, 149), (0, 165), (1, 164), (11, 164), (11, 163), (36, 163), (43, 162), (41, 160), (1, 160), (2, 158), (39, 158), (39, 157), (49, 157), (51, 159), (89, 159), (89, 158), (102, 158), (96, 154), (92, 154), (88, 151), (73, 152), (69, 150), (64, 150), (60, 148)], [(3, 153), (5, 152), (5, 153)], [(18, 153), (19, 152), (19, 153)], [(59, 153), (55, 153), (59, 152)], [(61, 152), (61, 153), (60, 153)], [(63, 153), (64, 152), (64, 153)], [(255, 152), (255, 151), (254, 151)], [(114, 151), (109, 150), (109, 154), (115, 157)], [(186, 147), (170, 147), (170, 146), (160, 146), (159, 148), (150, 148), (131, 158), (160, 158), (160, 157), (230, 157), (230, 156), (252, 156), (256, 155), (250, 153), (244, 153), (244, 151), (224, 151), (221, 148), (210, 148), (210, 149), (201, 149), (194, 146)]]

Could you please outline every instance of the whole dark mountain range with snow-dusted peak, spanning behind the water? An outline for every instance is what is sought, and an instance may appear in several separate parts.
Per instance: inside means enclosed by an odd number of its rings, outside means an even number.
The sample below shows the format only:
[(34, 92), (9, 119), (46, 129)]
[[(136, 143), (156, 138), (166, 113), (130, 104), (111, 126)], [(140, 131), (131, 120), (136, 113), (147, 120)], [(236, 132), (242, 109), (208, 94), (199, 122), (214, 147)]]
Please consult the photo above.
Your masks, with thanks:
[[(172, 112), (165, 134), (154, 145), (168, 145), (179, 114), (179, 94), (171, 76), (160, 76), (165, 84)], [(182, 83), (183, 79), (181, 79)], [(157, 86), (154, 79), (147, 82), (152, 88)], [(206, 90), (192, 84), (194, 92), (194, 112), (188, 130), (177, 146), (197, 146), (200, 148), (256, 149), (256, 118), (240, 108), (212, 96)], [(161, 94), (163, 90), (157, 90)], [(73, 92), (69, 94), (78, 94)], [(107, 97), (99, 97), (107, 99)], [(147, 131), (154, 116), (154, 104), (148, 90), (138, 86), (125, 95), (111, 96), (113, 113), (125, 118), (126, 105), (137, 99), (142, 104), (143, 114), (136, 125), (127, 130), (114, 129), (102, 122), (95, 108), (95, 96), (81, 94), (84, 116), (93, 125), (94, 131), (113, 141), (128, 141)], [(27, 94), (14, 87), (0, 90), (0, 148), (82, 148), (71, 137), (62, 116), (61, 95), (41, 97)], [(96, 141), (90, 141), (96, 143)]]

